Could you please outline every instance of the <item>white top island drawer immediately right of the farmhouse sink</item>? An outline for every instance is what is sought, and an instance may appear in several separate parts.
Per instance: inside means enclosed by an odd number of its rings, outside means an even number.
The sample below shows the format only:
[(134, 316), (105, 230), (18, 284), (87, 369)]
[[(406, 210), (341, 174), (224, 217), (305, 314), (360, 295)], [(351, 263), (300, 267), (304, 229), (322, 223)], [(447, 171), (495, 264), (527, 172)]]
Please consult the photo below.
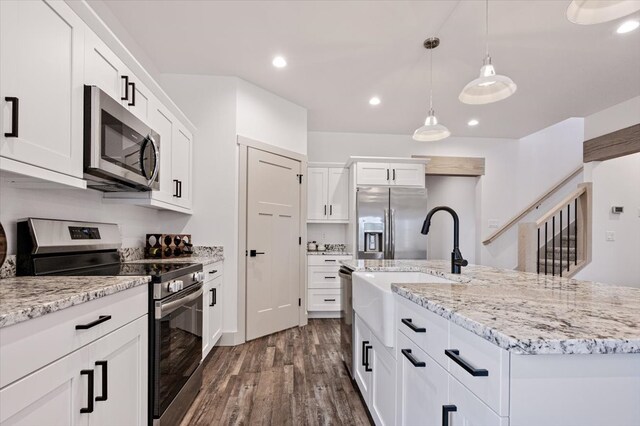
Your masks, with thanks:
[(448, 369), (449, 358), (444, 350), (449, 347), (449, 321), (403, 297), (395, 297), (397, 329)]

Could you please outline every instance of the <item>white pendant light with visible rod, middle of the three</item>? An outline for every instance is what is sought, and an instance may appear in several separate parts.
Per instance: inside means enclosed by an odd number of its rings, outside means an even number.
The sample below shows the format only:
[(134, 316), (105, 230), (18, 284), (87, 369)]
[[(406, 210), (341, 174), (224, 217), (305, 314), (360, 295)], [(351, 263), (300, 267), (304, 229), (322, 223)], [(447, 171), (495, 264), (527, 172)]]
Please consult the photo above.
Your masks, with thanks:
[(489, 55), (489, 0), (486, 2), (486, 56), (480, 68), (480, 77), (464, 86), (460, 92), (460, 102), (471, 105), (490, 104), (513, 95), (518, 88), (506, 75), (496, 74)]

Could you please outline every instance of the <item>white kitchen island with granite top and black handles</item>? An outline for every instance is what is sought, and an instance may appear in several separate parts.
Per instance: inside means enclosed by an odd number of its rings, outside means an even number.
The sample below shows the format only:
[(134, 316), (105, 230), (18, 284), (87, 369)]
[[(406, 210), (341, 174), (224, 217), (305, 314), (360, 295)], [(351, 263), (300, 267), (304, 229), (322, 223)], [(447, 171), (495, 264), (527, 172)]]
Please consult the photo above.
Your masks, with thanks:
[(449, 261), (343, 264), (354, 286), (389, 271), (454, 281), (394, 278), (392, 346), (354, 292), (354, 374), (376, 424), (640, 424), (640, 289), (475, 265), (453, 275)]

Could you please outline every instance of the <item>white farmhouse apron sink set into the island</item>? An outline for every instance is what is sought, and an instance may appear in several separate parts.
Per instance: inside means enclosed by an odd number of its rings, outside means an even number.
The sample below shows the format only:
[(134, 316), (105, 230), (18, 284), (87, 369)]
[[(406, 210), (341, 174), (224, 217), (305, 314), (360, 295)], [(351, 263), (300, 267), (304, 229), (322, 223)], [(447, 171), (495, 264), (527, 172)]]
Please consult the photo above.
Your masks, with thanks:
[(387, 347), (395, 341), (394, 303), (391, 284), (453, 284), (455, 281), (423, 272), (354, 272), (353, 309)]

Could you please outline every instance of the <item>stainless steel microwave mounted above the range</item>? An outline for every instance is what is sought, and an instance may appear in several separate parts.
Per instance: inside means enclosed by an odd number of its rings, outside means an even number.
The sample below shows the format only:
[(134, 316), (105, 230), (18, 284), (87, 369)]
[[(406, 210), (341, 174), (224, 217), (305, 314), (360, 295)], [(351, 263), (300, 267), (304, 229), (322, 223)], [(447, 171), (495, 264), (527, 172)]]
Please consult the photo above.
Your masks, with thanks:
[(84, 178), (105, 192), (160, 188), (160, 135), (96, 86), (84, 86)]

